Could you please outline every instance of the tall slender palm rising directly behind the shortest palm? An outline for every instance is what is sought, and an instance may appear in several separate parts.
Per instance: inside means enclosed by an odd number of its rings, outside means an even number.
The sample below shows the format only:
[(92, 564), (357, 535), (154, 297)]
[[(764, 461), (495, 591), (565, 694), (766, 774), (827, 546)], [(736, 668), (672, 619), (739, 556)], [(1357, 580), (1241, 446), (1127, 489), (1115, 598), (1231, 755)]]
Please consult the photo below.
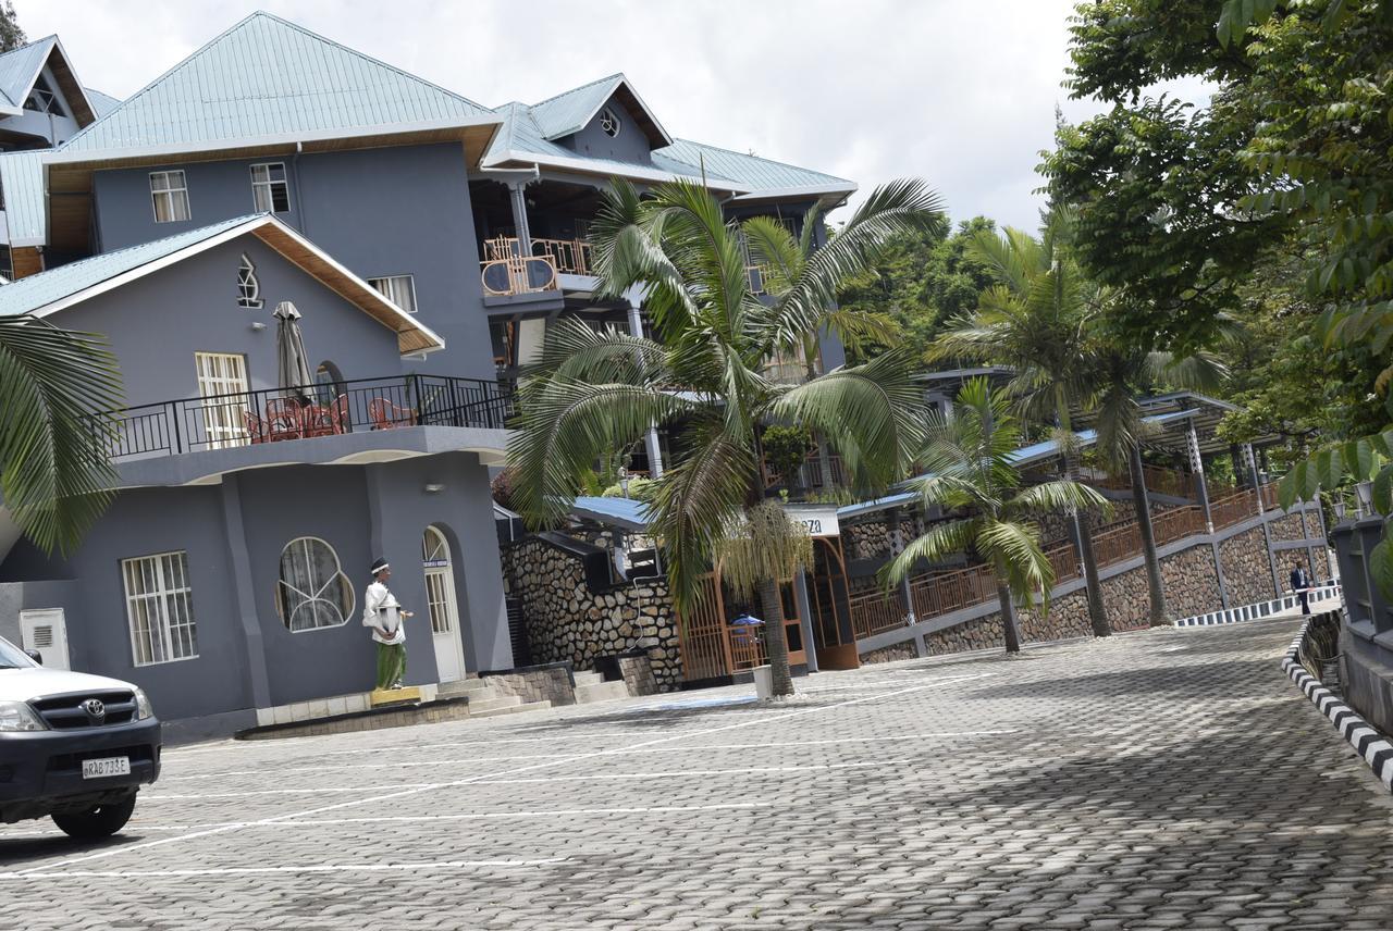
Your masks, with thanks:
[[(1041, 239), (1007, 228), (999, 237), (979, 231), (970, 252), (996, 277), (978, 299), (976, 312), (957, 320), (931, 349), (931, 358), (972, 358), (1010, 366), (1010, 392), (1022, 415), (1053, 422), (1064, 452), (1064, 476), (1078, 480), (1078, 444), (1073, 409), (1091, 391), (1087, 356), (1092, 292), (1063, 248), (1070, 217), (1050, 214)], [(1112, 633), (1103, 607), (1094, 530), (1087, 515), (1074, 515), (1078, 552), (1088, 589), (1088, 619), (1094, 636)]]

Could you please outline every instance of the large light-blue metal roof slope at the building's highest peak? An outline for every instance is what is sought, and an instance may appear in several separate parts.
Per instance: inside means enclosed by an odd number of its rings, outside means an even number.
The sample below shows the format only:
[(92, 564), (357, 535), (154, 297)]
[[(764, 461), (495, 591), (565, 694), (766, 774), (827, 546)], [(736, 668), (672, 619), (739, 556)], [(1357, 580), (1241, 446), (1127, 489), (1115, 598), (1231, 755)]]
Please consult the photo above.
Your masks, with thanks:
[(157, 149), (488, 118), (492, 111), (457, 93), (280, 17), (254, 13), (61, 150)]

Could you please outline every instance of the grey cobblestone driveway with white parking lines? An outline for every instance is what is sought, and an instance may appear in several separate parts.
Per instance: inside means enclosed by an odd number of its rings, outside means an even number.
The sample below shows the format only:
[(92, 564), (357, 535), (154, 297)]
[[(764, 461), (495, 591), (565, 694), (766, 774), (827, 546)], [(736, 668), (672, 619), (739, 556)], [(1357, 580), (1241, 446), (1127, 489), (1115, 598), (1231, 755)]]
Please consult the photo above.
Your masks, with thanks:
[(118, 841), (0, 827), (0, 924), (1389, 928), (1393, 802), (1294, 630), (171, 750)]

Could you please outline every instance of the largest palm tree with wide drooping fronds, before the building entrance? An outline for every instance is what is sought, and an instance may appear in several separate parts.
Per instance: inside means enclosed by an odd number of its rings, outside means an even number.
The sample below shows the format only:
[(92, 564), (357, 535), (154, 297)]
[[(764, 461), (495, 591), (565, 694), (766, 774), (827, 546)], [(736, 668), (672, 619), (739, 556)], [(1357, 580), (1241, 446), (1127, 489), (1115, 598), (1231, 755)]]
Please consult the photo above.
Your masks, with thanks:
[[(800, 385), (762, 373), (780, 348), (820, 326), (839, 285), (864, 270), (892, 237), (943, 225), (937, 198), (919, 181), (878, 188), (797, 277), (761, 298), (745, 263), (747, 231), (727, 223), (703, 188), (674, 182), (648, 199), (614, 181), (595, 225), (600, 294), (646, 294), (655, 338), (581, 321), (547, 331), (539, 365), (518, 398), (508, 459), (518, 509), (536, 525), (566, 515), (579, 476), (606, 451), (651, 424), (680, 427), (674, 462), (656, 482), (651, 526), (663, 541), (678, 610), (702, 597), (702, 578), (724, 541), (768, 526), (759, 436), (765, 424), (814, 430), (833, 443), (868, 486), (898, 477), (922, 434), (911, 360), (886, 353)], [(766, 257), (759, 252), (758, 257)], [(741, 568), (731, 566), (737, 575)], [(727, 569), (729, 571), (729, 569)], [(791, 694), (779, 579), (761, 589), (775, 693)]]

